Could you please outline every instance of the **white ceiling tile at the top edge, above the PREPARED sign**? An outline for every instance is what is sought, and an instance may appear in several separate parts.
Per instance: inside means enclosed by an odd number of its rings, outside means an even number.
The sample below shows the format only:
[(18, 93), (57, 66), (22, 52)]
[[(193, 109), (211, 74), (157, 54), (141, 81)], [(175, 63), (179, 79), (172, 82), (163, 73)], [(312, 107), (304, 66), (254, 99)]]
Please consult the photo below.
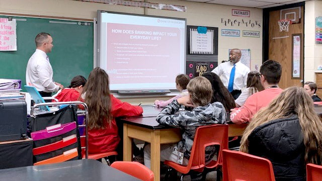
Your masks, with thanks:
[(214, 0), (214, 1), (209, 1), (207, 3), (229, 5), (229, 6), (241, 6), (241, 7), (249, 7), (249, 8), (256, 8), (256, 7), (267, 6), (267, 5), (273, 4), (273, 3), (265, 3), (265, 2), (251, 1), (251, 0), (239, 0), (239, 1)]

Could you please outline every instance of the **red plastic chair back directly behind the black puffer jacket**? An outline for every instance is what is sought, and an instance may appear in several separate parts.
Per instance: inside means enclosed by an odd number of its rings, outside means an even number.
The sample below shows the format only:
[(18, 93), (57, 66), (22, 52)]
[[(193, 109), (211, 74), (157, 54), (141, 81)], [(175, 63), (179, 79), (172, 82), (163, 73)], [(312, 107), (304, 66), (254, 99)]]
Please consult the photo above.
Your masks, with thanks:
[(222, 150), (222, 181), (275, 181), (270, 160), (248, 153)]

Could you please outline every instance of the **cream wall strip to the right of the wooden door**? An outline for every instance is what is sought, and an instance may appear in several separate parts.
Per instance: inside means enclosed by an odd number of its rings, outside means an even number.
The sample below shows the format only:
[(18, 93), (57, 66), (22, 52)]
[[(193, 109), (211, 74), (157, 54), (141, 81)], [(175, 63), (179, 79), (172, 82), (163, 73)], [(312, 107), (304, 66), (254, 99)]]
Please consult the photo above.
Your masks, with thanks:
[(315, 81), (314, 71), (322, 65), (322, 44), (315, 44), (315, 18), (322, 16), (322, 1), (305, 2), (304, 81)]

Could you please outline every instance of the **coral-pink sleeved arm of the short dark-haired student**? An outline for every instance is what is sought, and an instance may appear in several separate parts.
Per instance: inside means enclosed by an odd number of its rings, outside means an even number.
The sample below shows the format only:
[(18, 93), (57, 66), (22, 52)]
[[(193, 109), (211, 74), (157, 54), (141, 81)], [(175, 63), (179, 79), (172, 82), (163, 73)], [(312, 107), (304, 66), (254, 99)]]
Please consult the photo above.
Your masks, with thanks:
[(230, 110), (230, 120), (235, 124), (250, 122), (251, 118), (257, 112), (257, 101), (254, 95), (250, 96), (245, 104), (240, 108)]

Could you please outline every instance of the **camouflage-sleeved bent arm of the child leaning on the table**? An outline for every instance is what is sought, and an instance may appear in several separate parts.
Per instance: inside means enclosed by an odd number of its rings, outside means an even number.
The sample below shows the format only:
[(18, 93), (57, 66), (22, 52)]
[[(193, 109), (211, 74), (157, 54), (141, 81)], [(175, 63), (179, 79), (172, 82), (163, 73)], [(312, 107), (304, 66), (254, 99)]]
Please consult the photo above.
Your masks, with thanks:
[[(180, 99), (181, 100), (179, 101), (182, 101), (182, 99), (186, 99), (186, 97), (182, 97)], [(189, 104), (184, 104), (184, 103), (182, 103), (182, 105), (191, 106)], [(179, 127), (179, 128), (182, 126), (186, 126), (188, 124), (188, 119), (191, 118), (191, 116), (189, 116), (188, 114), (192, 114), (192, 113), (188, 113), (184, 111), (176, 114), (176, 112), (179, 111), (180, 107), (181, 107), (181, 104), (178, 103), (178, 100), (174, 100), (173, 102), (168, 104), (168, 106), (166, 106), (156, 116), (156, 121), (160, 124)]]

